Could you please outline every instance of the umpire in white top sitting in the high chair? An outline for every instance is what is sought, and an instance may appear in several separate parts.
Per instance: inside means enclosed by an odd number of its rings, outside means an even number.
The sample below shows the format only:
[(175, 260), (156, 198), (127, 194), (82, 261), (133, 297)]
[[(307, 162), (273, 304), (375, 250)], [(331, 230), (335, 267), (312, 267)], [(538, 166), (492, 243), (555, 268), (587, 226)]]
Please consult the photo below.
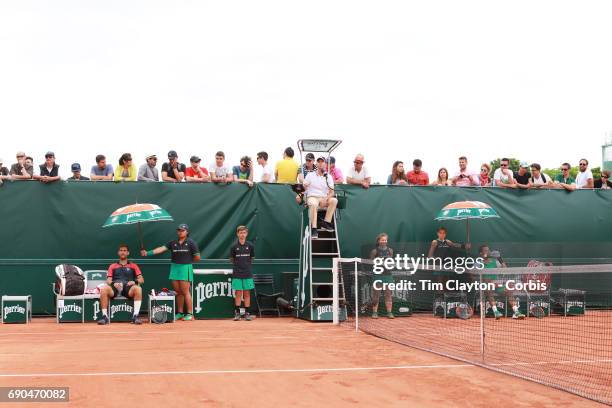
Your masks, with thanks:
[(323, 163), (325, 159), (317, 159), (319, 166), (316, 172), (310, 172), (304, 180), (306, 188), (306, 202), (308, 203), (308, 219), (312, 229), (312, 238), (319, 237), (317, 230), (317, 211), (319, 208), (327, 208), (325, 219), (321, 222), (321, 230), (334, 231), (331, 224), (332, 217), (336, 211), (338, 200), (334, 197), (334, 180), (329, 174), (323, 173)]

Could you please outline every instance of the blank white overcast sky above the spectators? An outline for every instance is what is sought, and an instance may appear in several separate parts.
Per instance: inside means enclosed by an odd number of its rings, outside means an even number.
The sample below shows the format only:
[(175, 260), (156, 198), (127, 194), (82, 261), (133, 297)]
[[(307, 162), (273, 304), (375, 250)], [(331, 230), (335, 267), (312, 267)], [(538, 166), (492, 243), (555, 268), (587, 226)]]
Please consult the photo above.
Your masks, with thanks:
[[(340, 138), (376, 181), (500, 156), (601, 164), (612, 130), (605, 1), (0, 3), (0, 157), (62, 174), (169, 149), (228, 164)], [(161, 165), (161, 162), (160, 162)], [(88, 173), (88, 171), (84, 171)]]

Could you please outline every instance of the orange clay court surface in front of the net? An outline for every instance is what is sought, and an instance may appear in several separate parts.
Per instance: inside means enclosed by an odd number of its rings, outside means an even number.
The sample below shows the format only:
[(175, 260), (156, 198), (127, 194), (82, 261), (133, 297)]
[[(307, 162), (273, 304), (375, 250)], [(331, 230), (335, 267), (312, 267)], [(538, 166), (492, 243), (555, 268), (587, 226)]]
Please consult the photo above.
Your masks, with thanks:
[(346, 327), (292, 318), (104, 327), (44, 318), (0, 329), (0, 386), (70, 387), (70, 403), (58, 407), (603, 406)]

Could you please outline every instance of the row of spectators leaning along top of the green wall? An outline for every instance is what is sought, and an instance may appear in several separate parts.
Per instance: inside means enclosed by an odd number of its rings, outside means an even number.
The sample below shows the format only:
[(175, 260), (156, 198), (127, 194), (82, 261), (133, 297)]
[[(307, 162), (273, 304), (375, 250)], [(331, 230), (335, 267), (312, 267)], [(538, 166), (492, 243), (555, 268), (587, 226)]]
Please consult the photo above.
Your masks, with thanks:
[[(89, 177), (82, 174), (80, 163), (71, 165), (72, 177), (67, 181), (116, 181), (116, 182), (170, 182), (170, 183), (244, 183), (252, 187), (258, 183), (284, 183), (303, 184), (309, 174), (329, 175), (333, 184), (353, 184), (363, 188), (369, 188), (372, 184), (372, 176), (365, 165), (363, 154), (355, 155), (353, 164), (347, 170), (346, 180), (340, 168), (336, 167), (334, 157), (319, 157), (315, 161), (312, 153), (307, 153), (305, 161), (300, 165), (295, 159), (295, 152), (291, 147), (285, 149), (283, 159), (274, 166), (268, 163), (268, 153), (257, 153), (257, 160), (249, 156), (240, 158), (237, 165), (230, 166), (225, 162), (225, 154), (218, 151), (215, 161), (208, 168), (201, 166), (198, 156), (191, 156), (189, 165), (179, 161), (176, 151), (171, 150), (167, 154), (168, 161), (161, 166), (161, 172), (157, 167), (157, 155), (149, 154), (145, 162), (138, 168), (134, 165), (132, 155), (124, 153), (117, 162), (117, 166), (107, 163), (103, 154), (95, 157), (96, 164), (91, 167)], [(322, 160), (321, 160), (322, 159)], [(59, 176), (59, 165), (55, 162), (55, 154), (47, 152), (44, 163), (34, 166), (32, 157), (25, 152), (17, 152), (16, 163), (10, 169), (4, 167), (0, 159), (0, 184), (6, 180), (38, 180), (42, 183), (52, 183), (61, 180)], [(510, 160), (500, 160), (499, 168), (491, 171), (489, 163), (480, 166), (480, 172), (472, 171), (465, 156), (459, 157), (458, 167), (454, 172), (449, 172), (442, 167), (438, 170), (435, 179), (430, 181), (429, 175), (423, 170), (423, 162), (420, 159), (412, 161), (412, 170), (406, 171), (404, 162), (395, 161), (391, 168), (391, 174), (387, 177), (387, 184), (397, 186), (480, 186), (515, 189), (564, 189), (573, 191), (576, 189), (612, 189), (610, 171), (601, 172), (601, 178), (594, 179), (589, 170), (589, 162), (580, 159), (579, 171), (576, 177), (570, 175), (571, 165), (563, 163), (560, 173), (555, 177), (545, 174), (540, 164), (521, 162), (518, 171), (510, 169)], [(491, 174), (492, 173), (492, 174)]]

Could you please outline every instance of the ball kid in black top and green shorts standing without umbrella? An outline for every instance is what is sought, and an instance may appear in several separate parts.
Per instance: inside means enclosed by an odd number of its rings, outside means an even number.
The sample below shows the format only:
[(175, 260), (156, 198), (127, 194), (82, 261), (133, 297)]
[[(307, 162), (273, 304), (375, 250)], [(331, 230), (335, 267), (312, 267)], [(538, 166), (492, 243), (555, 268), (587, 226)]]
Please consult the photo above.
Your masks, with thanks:
[(244, 320), (253, 320), (249, 313), (251, 307), (251, 289), (255, 288), (253, 282), (253, 259), (255, 258), (255, 246), (246, 240), (249, 229), (244, 225), (236, 228), (238, 242), (230, 249), (230, 261), (234, 265), (232, 275), (232, 289), (235, 296), (234, 320), (240, 320), (240, 304), (244, 299)]

